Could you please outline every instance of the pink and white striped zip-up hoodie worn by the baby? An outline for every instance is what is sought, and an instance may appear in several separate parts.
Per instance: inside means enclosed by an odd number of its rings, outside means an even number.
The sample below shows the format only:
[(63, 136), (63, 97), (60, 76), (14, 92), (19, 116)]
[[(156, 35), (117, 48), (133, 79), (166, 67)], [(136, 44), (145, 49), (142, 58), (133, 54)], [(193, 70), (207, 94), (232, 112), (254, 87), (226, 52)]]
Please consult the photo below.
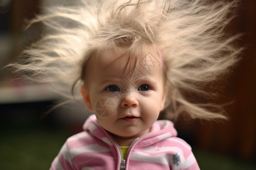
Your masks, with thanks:
[(131, 144), (125, 160), (94, 115), (83, 129), (67, 139), (50, 169), (199, 169), (191, 147), (176, 137), (171, 121), (156, 121), (150, 133)]

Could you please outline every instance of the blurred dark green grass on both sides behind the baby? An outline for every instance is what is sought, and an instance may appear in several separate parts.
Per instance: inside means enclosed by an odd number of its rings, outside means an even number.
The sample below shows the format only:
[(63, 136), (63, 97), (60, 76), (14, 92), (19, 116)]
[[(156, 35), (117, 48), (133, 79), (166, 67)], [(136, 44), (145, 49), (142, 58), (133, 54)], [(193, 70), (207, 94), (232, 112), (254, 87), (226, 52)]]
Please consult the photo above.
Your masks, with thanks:
[[(66, 129), (23, 128), (1, 130), (0, 169), (49, 169), (52, 160), (70, 135)], [(256, 169), (256, 164), (231, 156), (193, 148), (201, 169)]]

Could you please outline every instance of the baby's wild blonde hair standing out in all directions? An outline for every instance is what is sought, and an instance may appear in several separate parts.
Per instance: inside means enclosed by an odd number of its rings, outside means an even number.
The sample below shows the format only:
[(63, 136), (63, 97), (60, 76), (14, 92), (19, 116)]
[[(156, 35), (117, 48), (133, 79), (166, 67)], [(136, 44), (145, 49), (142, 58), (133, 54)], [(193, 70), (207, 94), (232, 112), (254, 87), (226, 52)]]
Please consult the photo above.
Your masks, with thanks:
[(241, 49), (232, 45), (238, 36), (224, 33), (237, 3), (80, 0), (47, 8), (28, 27), (42, 22), (48, 33), (24, 51), (28, 57), (23, 62), (9, 66), (32, 80), (55, 84), (57, 91), (71, 99), (67, 88), (86, 81), (86, 63), (100, 50), (157, 46), (166, 64), (167, 118), (183, 112), (192, 118), (225, 118), (220, 105), (196, 103), (189, 95), (212, 95), (205, 85), (216, 82), (238, 61)]

